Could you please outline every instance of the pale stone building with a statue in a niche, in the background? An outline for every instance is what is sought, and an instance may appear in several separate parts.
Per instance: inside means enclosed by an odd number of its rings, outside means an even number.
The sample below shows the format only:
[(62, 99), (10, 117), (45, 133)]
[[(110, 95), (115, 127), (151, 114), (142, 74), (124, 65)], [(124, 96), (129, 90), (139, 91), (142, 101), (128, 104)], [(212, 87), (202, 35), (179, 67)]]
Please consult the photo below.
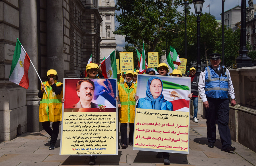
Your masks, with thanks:
[(99, 12), (102, 18), (100, 24), (100, 62), (103, 58), (115, 50), (116, 51), (116, 38), (113, 31), (115, 31), (115, 1), (114, 0), (99, 0)]

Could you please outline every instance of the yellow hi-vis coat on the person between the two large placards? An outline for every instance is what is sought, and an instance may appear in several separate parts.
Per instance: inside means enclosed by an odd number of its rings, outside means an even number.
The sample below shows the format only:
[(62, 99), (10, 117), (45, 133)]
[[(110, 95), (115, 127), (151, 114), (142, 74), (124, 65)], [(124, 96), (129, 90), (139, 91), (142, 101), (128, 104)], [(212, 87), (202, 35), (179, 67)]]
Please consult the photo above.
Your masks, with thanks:
[(134, 100), (137, 84), (133, 84), (129, 88), (126, 82), (118, 85), (119, 100), (121, 102), (121, 112), (119, 112), (120, 123), (134, 123), (135, 104)]

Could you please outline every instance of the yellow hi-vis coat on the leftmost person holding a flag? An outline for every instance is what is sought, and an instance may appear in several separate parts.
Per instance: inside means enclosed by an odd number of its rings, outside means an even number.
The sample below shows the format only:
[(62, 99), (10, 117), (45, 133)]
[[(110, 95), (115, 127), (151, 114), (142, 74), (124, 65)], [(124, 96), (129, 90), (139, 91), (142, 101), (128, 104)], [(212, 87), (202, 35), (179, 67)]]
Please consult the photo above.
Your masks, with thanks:
[[(56, 86), (59, 87), (62, 83), (54, 81)], [(47, 94), (43, 94), (39, 106), (39, 122), (57, 122), (61, 121), (62, 118), (62, 103), (63, 88), (61, 94), (55, 94), (52, 86), (49, 85), (48, 81), (43, 82)], [(41, 87), (42, 90), (42, 87)]]

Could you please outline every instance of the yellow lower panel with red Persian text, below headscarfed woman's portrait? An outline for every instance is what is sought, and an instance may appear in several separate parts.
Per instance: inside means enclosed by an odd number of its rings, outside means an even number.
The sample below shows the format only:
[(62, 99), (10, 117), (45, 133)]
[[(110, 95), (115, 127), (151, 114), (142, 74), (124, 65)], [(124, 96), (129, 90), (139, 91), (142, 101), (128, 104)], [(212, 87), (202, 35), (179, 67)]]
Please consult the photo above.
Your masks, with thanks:
[(136, 108), (134, 124), (134, 148), (188, 153), (189, 112)]

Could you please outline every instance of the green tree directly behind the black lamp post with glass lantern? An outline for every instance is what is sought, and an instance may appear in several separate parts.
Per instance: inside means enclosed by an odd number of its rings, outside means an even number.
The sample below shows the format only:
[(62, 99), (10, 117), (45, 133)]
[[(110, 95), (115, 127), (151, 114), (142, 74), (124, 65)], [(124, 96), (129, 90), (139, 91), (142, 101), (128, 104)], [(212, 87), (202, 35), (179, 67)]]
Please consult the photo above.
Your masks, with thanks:
[[(193, 13), (187, 15), (187, 58), (188, 65), (196, 62), (197, 59), (197, 18)], [(202, 62), (208, 63), (207, 55), (211, 54), (215, 42), (217, 40), (216, 30), (218, 23), (215, 16), (204, 13), (200, 17), (200, 55)], [(185, 23), (179, 24), (180, 29), (185, 29)], [(176, 38), (172, 40), (172, 47), (174, 47), (180, 57), (185, 58), (185, 32), (178, 34)]]

